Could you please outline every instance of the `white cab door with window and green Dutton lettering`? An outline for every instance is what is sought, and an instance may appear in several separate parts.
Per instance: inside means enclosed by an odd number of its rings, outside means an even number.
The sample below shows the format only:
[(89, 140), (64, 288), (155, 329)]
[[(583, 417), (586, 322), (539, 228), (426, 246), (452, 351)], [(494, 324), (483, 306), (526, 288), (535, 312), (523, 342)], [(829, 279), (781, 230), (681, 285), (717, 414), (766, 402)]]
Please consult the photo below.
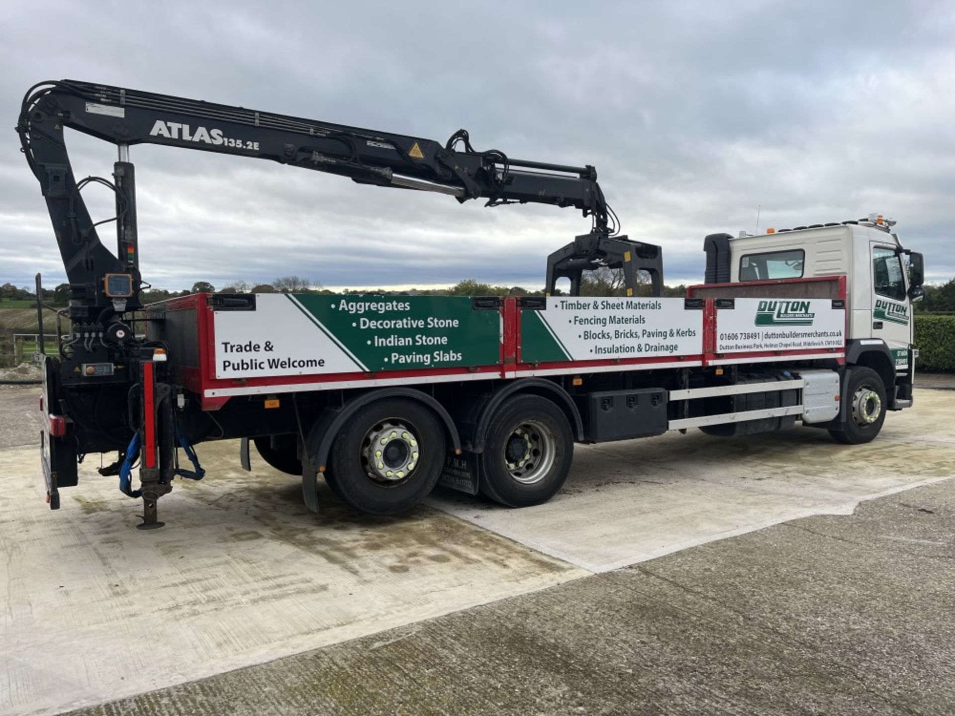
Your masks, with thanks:
[(908, 348), (912, 342), (912, 308), (902, 257), (889, 243), (871, 244), (872, 252), (872, 337), (881, 338), (892, 352), (897, 370), (908, 369)]

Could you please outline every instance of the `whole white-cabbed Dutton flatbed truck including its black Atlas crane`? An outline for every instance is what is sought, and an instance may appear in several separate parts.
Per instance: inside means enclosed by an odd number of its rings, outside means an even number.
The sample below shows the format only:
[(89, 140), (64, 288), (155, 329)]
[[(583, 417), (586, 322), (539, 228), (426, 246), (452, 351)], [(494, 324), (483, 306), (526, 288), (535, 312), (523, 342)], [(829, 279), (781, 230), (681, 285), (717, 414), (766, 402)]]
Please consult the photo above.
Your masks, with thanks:
[[(117, 145), (112, 179), (75, 179), (66, 128)], [(320, 480), (372, 515), (405, 512), (439, 483), (520, 508), (561, 489), (576, 444), (798, 422), (860, 445), (912, 406), (923, 256), (878, 214), (713, 233), (704, 283), (674, 297), (662, 248), (619, 234), (593, 166), (478, 151), (464, 130), (440, 144), (62, 80), (28, 91), (17, 132), (70, 284), (69, 329), (43, 357), (52, 509), (87, 454), (115, 452), (100, 473), (141, 497), (140, 528), (159, 527), (175, 478), (205, 474), (195, 446), (229, 439), (246, 469), (254, 447), (301, 477), (316, 513)], [(140, 143), (462, 202), (573, 207), (591, 228), (547, 258), (544, 295), (195, 293), (143, 305), (129, 158)], [(93, 182), (116, 195), (115, 253), (82, 200)], [(621, 295), (582, 295), (588, 272), (605, 269), (623, 277)]]

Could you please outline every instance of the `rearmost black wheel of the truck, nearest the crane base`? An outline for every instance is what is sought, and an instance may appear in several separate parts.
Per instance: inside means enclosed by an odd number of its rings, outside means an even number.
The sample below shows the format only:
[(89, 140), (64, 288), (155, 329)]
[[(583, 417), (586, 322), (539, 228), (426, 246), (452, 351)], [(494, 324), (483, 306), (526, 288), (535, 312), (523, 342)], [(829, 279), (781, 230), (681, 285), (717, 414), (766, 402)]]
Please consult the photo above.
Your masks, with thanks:
[(389, 398), (359, 409), (331, 446), (329, 487), (369, 515), (411, 510), (435, 489), (446, 453), (435, 413)]

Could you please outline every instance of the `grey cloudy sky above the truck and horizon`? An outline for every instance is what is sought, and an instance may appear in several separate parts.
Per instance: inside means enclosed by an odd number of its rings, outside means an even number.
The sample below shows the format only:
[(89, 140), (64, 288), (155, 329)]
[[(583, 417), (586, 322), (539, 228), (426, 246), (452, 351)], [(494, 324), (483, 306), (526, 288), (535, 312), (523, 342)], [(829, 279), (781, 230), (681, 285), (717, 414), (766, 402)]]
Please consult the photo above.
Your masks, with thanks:
[[(930, 281), (955, 276), (951, 2), (44, 2), (0, 27), (0, 284), (64, 279), (13, 130), (24, 92), (71, 78), (597, 167), (668, 284), (703, 236), (899, 221)], [(504, 7), (507, 10), (504, 10)], [(113, 145), (68, 135), (77, 178)], [(265, 161), (133, 147), (141, 268), (165, 288), (543, 283), (589, 228), (572, 209), (360, 186)], [(84, 191), (95, 220), (106, 189)], [(115, 245), (111, 225), (100, 236)]]

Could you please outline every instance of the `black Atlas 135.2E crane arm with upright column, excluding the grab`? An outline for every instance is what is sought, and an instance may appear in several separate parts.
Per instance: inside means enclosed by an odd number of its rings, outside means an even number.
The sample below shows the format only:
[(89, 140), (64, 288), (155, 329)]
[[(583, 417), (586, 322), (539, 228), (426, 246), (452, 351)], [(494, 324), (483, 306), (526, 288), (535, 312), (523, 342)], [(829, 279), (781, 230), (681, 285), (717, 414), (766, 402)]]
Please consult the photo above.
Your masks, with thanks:
[[(70, 127), (119, 146), (115, 181), (74, 179), (63, 138)], [(17, 124), (23, 151), (39, 180), (71, 284), (71, 317), (92, 322), (115, 304), (110, 275), (132, 275), (126, 310), (138, 308), (138, 244), (132, 144), (163, 144), (271, 159), (360, 183), (449, 194), (487, 205), (529, 201), (573, 206), (593, 220), (592, 233), (615, 233), (592, 166), (574, 167), (476, 151), (459, 130), (444, 144), (293, 116), (275, 115), (170, 95), (63, 80), (35, 85)], [(105, 183), (117, 193), (117, 256), (96, 234), (80, 190)], [(110, 220), (107, 220), (110, 221)], [(101, 222), (100, 222), (101, 223)], [(120, 282), (121, 285), (121, 282)], [(104, 287), (105, 286), (105, 287)], [(121, 293), (121, 291), (120, 291)], [(122, 308), (119, 309), (119, 312)]]

